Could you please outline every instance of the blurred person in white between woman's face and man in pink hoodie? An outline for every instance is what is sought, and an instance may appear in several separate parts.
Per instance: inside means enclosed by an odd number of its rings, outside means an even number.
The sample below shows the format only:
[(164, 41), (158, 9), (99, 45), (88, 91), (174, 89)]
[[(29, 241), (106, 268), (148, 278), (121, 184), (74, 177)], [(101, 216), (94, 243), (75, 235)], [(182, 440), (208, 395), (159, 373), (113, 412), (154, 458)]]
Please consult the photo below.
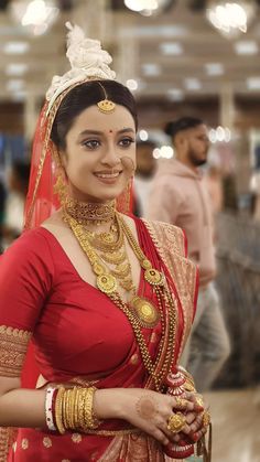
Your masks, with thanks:
[(153, 150), (156, 144), (153, 141), (137, 142), (137, 170), (134, 175), (134, 215), (147, 216), (147, 207), (151, 191), (152, 179), (155, 171)]

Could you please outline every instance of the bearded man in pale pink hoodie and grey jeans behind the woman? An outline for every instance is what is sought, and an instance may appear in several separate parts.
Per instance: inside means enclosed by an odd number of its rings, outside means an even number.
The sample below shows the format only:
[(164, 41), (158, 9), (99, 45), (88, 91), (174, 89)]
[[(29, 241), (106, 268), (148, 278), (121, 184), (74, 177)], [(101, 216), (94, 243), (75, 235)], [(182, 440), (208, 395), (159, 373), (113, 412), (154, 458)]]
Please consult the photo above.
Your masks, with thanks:
[(230, 353), (229, 339), (214, 279), (216, 261), (208, 192), (199, 166), (207, 161), (207, 127), (203, 120), (183, 117), (169, 122), (175, 158), (161, 161), (155, 174), (148, 217), (180, 226), (187, 237), (188, 256), (199, 268), (199, 292), (192, 335), (182, 356), (198, 390), (210, 388)]

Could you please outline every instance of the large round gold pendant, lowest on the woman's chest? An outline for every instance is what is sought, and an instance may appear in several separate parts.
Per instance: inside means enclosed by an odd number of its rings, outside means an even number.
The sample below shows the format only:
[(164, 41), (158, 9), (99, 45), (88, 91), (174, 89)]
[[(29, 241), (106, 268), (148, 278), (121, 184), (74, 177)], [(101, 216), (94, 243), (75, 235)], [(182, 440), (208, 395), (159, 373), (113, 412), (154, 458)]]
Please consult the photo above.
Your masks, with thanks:
[(130, 303), (142, 327), (153, 329), (159, 323), (160, 313), (158, 309), (147, 299), (134, 297)]

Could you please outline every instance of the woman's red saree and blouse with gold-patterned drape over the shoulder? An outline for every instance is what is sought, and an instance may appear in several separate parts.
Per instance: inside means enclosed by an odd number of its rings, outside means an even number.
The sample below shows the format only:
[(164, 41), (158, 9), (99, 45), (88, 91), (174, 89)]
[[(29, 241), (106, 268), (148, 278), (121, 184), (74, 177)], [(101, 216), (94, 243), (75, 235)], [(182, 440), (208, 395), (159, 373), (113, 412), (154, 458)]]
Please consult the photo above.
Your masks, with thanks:
[[(185, 258), (181, 229), (140, 219), (136, 219), (136, 225), (140, 246), (153, 267), (165, 273), (175, 300), (173, 364), (176, 364), (194, 315), (196, 269)], [(21, 358), (32, 334), (39, 370), (48, 383), (84, 385), (88, 384), (88, 377), (96, 377), (98, 388), (153, 389), (126, 315), (105, 294), (80, 279), (56, 238), (45, 228), (24, 233), (4, 254), (0, 261), (0, 286), (3, 288), (1, 307), (9, 307), (9, 310), (0, 310), (0, 325), (10, 327), (8, 334), (7, 329), (2, 330), (1, 345), (4, 336), (13, 355), (14, 348), (20, 347), (20, 357), (9, 365), (12, 376), (21, 368)], [(143, 272), (138, 290), (141, 297), (156, 304)], [(161, 323), (142, 331), (150, 355), (155, 359), (162, 341)], [(166, 342), (165, 337), (165, 345)], [(4, 373), (7, 364), (2, 362), (0, 367)], [(165, 459), (155, 440), (141, 434), (128, 422), (108, 420), (93, 434), (59, 436), (19, 429), (8, 460), (161, 462)]]

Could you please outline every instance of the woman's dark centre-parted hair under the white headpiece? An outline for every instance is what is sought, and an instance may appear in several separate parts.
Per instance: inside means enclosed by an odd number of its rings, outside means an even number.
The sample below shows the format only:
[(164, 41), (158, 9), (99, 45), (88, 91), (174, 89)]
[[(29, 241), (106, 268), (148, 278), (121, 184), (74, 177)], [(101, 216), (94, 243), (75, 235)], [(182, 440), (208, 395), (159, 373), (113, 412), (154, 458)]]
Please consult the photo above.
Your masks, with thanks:
[(138, 128), (137, 104), (131, 92), (124, 85), (116, 80), (89, 80), (68, 92), (57, 109), (51, 133), (51, 139), (57, 148), (66, 148), (65, 138), (75, 118), (83, 110), (105, 99), (102, 87), (106, 90), (107, 99), (124, 106), (129, 110), (133, 117), (136, 129)]

